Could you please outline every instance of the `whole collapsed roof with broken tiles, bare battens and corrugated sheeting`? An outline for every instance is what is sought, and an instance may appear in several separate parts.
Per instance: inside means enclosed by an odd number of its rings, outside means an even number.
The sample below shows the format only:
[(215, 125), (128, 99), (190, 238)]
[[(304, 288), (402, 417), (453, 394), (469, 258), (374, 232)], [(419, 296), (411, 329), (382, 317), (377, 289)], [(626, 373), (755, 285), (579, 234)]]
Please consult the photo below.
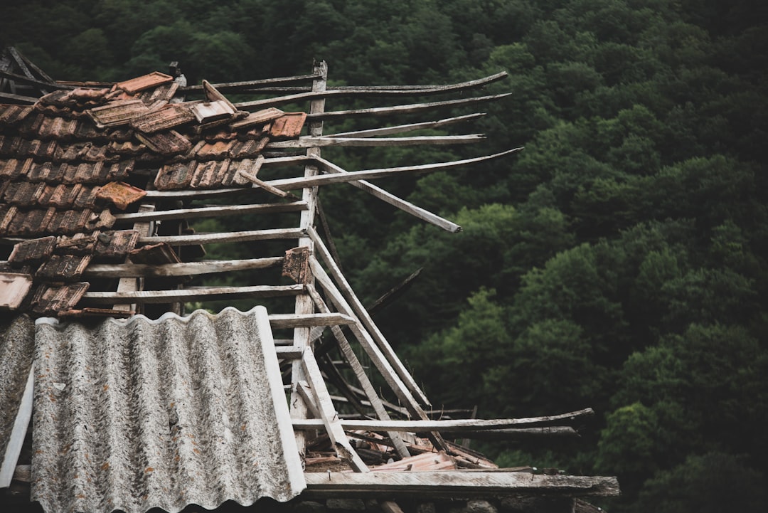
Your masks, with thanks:
[[(4, 81), (15, 78), (13, 73), (3, 73)], [(463, 167), (520, 150), (438, 164), (345, 170), (324, 159), (321, 149), (471, 143), (483, 136), (392, 135), (472, 121), (482, 114), (340, 134), (323, 134), (325, 120), (422, 113), (495, 101), (505, 94), (345, 111), (326, 111), (326, 98), (451, 94), (482, 88), (504, 77), (505, 73), (499, 73), (444, 86), (328, 89), (326, 65), (320, 62), (312, 74), (299, 77), (231, 84), (203, 81), (199, 86), (186, 86), (180, 77), (160, 72), (117, 84), (60, 83), (28, 76), (28, 81), (42, 82), (37, 84), (40, 98), (31, 100), (2, 93), (0, 87), (0, 95), (14, 102), (0, 106), (0, 243), (5, 244), (5, 260), (0, 263), (0, 308), (11, 319), (3, 326), (0, 349), (16, 356), (4, 359), (4, 367), (21, 369), (7, 383), (0, 382), (0, 396), (9, 403), (6, 411), (14, 412), (15, 419), (0, 426), (4, 442), (0, 447), (5, 451), (0, 473), (5, 482), (0, 486), (11, 481), (24, 440), (24, 418), (34, 410), (32, 443), (36, 456), (31, 465), (38, 477), (31, 491), (32, 498), (41, 501), (46, 511), (74, 508), (108, 512), (121, 508), (141, 513), (153, 507), (177, 511), (190, 503), (214, 508), (225, 500), (250, 504), (260, 496), (287, 500), (305, 486), (305, 493), (319, 495), (379, 493), (388, 497), (413, 493), (554, 493), (569, 497), (617, 493), (614, 478), (523, 478), (519, 472), (484, 474), (458, 469), (462, 465), (495, 465), (480, 464), (481, 459), (446, 441), (443, 433), (468, 436), (485, 432), (507, 438), (575, 435), (574, 422), (591, 411), (532, 419), (430, 419), (429, 400), (349, 286), (333, 255), (329, 235), (321, 237), (316, 230), (320, 186), (346, 183), (420, 220), (456, 232), (461, 228), (455, 223), (368, 180)], [(227, 98), (230, 93), (260, 99), (233, 102)], [(306, 112), (280, 108), (305, 102), (309, 102)], [(193, 226), (194, 221), (205, 218), (244, 214), (283, 223), (284, 217), (269, 217), (277, 213), (293, 215), (293, 224), (266, 229), (243, 226), (225, 233), (195, 233)], [(282, 253), (240, 260), (200, 260), (206, 244), (267, 240), (281, 241)], [(218, 276), (239, 270), (273, 270), (276, 279), (266, 284), (184, 286), (190, 276)], [(286, 277), (293, 283), (284, 283)], [(246, 314), (225, 309), (218, 316), (199, 311), (180, 317), (188, 303), (247, 298), (257, 305), (273, 297), (293, 298), (290, 311), (266, 313), (263, 306), (256, 306)], [(88, 320), (93, 317), (105, 319), (94, 327)], [(152, 320), (157, 317), (160, 319)], [(257, 327), (230, 329), (231, 323), (251, 317), (257, 319), (253, 321)], [(30, 327), (31, 320), (24, 320), (30, 318), (38, 318), (35, 328)], [(197, 337), (218, 333), (220, 325), (230, 326), (223, 329), (229, 334), (208, 337), (219, 349), (203, 357), (210, 347)], [(171, 326), (182, 327), (179, 331)], [(339, 379), (336, 364), (319, 351), (321, 347), (327, 350), (326, 343), (318, 342), (326, 329), (345, 365), (352, 369), (354, 386)], [(286, 333), (285, 338), (277, 336), (281, 333)], [(248, 357), (240, 354), (243, 346), (250, 348), (257, 341), (263, 353), (259, 358), (250, 352)], [(17, 346), (24, 349), (8, 349)], [(35, 353), (35, 371), (30, 369), (31, 352)], [(382, 399), (362, 369), (357, 356), (360, 352), (371, 359), (400, 405)], [(223, 356), (211, 367), (211, 358), (219, 358), (215, 355)], [(262, 361), (263, 369), (252, 368)], [(230, 376), (233, 368), (251, 379)], [(161, 376), (182, 385), (163, 386)], [(208, 383), (216, 382), (219, 376), (233, 388), (231, 393), (217, 392), (216, 386), (204, 386), (195, 378), (201, 396), (190, 399), (192, 378), (185, 381), (183, 376), (207, 376)], [(264, 376), (270, 392), (260, 389), (253, 376)], [(326, 382), (332, 382), (343, 397), (331, 396)], [(290, 391), (290, 408), (283, 409), (285, 403), (276, 400), (280, 394), (275, 391), (280, 386)], [(233, 394), (261, 396), (266, 402), (249, 406), (250, 399), (233, 401)], [(161, 412), (161, 417), (146, 414), (145, 403), (151, 401), (157, 405), (151, 411)], [(204, 404), (205, 411), (187, 409), (185, 401)], [(124, 403), (135, 407), (124, 409), (120, 406)], [(358, 410), (362, 420), (339, 415), (339, 410), (349, 405)], [(51, 408), (58, 410), (54, 413)], [(257, 411), (260, 413), (254, 413)], [(58, 422), (46, 422), (51, 418)], [(124, 419), (124, 425), (118, 425), (119, 419)], [(141, 419), (147, 419), (144, 425)], [(259, 444), (257, 431), (251, 429), (250, 438), (245, 439), (232, 435), (240, 426), (252, 425), (249, 422), (263, 423), (262, 429), (266, 429), (266, 422), (274, 422), (270, 432), (280, 444), (270, 445), (256, 457), (255, 449), (248, 448)], [(104, 429), (104, 425), (111, 429)], [(190, 431), (193, 425), (197, 426), (194, 432)], [(142, 435), (126, 435), (126, 429)], [(313, 455), (318, 446), (312, 445), (305, 433), (316, 431), (326, 437), (333, 455), (319, 459)], [(222, 435), (220, 444), (208, 440), (200, 447), (183, 447), (189, 441), (185, 437), (198, 439), (205, 433), (227, 432), (230, 435)], [(424, 437), (419, 439), (412, 433)], [(369, 447), (370, 443), (379, 447), (386, 458), (403, 462), (402, 468), (397, 462), (392, 462), (394, 467), (392, 463), (389, 467), (379, 465), (389, 477), (379, 474), (371, 478), (377, 466), (364, 461), (359, 454), (362, 449), (351, 442), (361, 438), (368, 439)], [(163, 449), (152, 453), (151, 448), (158, 443)], [(113, 447), (104, 453), (107, 445)], [(80, 452), (75, 452), (75, 447)], [(196, 449), (204, 452), (200, 461), (194, 456)], [(259, 460), (266, 474), (279, 475), (280, 469), (285, 470), (290, 476), (285, 481), (290, 483), (286, 488), (290, 491), (281, 495), (253, 481), (238, 484), (240, 488), (206, 482), (211, 472), (206, 461), (218, 462), (213, 474), (227, 482), (230, 474), (246, 472), (237, 466), (242, 458), (237, 465), (230, 465), (233, 451), (249, 452), (249, 458)], [(425, 467), (419, 466), (424, 465), (422, 460), (411, 459), (425, 453), (442, 456), (429, 459)], [(317, 472), (311, 472), (313, 463), (327, 463), (329, 460), (323, 458), (328, 457), (341, 467), (333, 467), (335, 472), (318, 478)], [(297, 464), (306, 465), (303, 478), (291, 470)], [(61, 468), (77, 470), (68, 478), (58, 479), (56, 469)], [(353, 472), (336, 472), (342, 469)], [(408, 472), (411, 469), (422, 472)], [(195, 472), (198, 478), (200, 473), (206, 477), (196, 482)], [(191, 479), (188, 489), (167, 485), (184, 475)], [(247, 477), (256, 479), (258, 475), (264, 474), (254, 471)], [(88, 482), (101, 485), (78, 488), (78, 478), (84, 476)], [(194, 491), (206, 487), (225, 491), (218, 495)], [(248, 495), (243, 491), (253, 488), (260, 492)], [(161, 489), (165, 495), (152, 492)], [(54, 497), (57, 501), (49, 500)], [(125, 500), (109, 500), (115, 497)], [(131, 503), (131, 497), (142, 499)]]

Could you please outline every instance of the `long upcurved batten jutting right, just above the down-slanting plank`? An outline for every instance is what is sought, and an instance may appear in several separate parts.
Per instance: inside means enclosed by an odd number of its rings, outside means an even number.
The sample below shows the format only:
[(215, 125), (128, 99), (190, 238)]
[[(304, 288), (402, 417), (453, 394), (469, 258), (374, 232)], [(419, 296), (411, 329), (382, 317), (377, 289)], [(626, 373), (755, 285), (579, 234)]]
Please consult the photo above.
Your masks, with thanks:
[(292, 190), (299, 187), (314, 187), (316, 185), (341, 184), (355, 180), (369, 180), (372, 178), (382, 178), (399, 173), (429, 173), (437, 170), (452, 169), (454, 167), (466, 166), (468, 164), (477, 164), (478, 162), (492, 161), (507, 155), (516, 154), (522, 151), (521, 147), (502, 151), (501, 153), (485, 155), (483, 157), (474, 157), (462, 161), (437, 162), (435, 164), (421, 164), (419, 166), (403, 167), (382, 167), (381, 169), (369, 169), (362, 171), (349, 171), (346, 174), (321, 174), (314, 177), (283, 178), (282, 180), (269, 180), (266, 182), (272, 187), (282, 190)]

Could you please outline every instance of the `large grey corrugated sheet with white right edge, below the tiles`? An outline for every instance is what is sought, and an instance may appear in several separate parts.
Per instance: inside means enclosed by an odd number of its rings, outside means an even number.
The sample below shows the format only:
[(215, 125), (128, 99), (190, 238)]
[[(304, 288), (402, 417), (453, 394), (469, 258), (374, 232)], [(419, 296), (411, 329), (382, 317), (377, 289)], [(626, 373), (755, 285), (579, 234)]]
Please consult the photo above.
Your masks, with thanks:
[(32, 500), (144, 513), (287, 501), (306, 484), (266, 309), (38, 319)]

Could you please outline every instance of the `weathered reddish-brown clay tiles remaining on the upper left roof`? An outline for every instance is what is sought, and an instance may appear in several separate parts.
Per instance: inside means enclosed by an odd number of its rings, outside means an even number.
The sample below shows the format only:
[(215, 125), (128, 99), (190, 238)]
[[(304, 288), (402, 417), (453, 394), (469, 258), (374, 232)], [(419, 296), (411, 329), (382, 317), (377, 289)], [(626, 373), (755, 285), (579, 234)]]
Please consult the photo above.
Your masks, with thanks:
[(247, 113), (204, 82), (204, 101), (175, 101), (170, 75), (112, 88), (0, 105), (0, 237), (15, 242), (0, 267), (0, 308), (67, 315), (88, 290), (89, 263), (124, 261), (139, 233), (114, 230), (147, 188), (244, 187), (238, 171), (267, 142), (298, 137), (303, 113)]

